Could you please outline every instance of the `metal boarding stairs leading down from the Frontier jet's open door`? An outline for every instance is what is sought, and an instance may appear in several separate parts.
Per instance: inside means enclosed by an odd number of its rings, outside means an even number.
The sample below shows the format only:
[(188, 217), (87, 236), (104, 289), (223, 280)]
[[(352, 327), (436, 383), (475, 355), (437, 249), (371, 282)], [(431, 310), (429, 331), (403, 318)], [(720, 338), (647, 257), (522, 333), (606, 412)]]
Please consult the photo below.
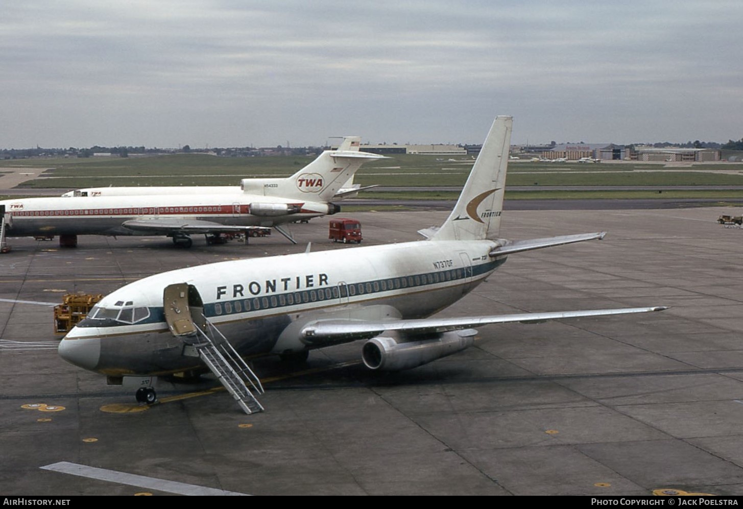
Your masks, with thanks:
[(206, 322), (208, 334), (200, 327), (196, 327), (198, 338), (201, 341), (194, 343), (193, 346), (198, 351), (199, 357), (209, 366), (209, 369), (212, 370), (212, 373), (224, 388), (233, 395), (233, 398), (246, 414), (262, 412), (262, 404), (253, 396), (253, 392), (250, 392), (247, 386), (247, 384), (250, 384), (254, 392), (263, 394), (265, 391), (261, 380), (253, 373), (250, 366), (247, 366), (247, 363), (242, 360), (242, 357), (230, 345), (224, 334), (212, 322), (209, 320), (206, 320)]

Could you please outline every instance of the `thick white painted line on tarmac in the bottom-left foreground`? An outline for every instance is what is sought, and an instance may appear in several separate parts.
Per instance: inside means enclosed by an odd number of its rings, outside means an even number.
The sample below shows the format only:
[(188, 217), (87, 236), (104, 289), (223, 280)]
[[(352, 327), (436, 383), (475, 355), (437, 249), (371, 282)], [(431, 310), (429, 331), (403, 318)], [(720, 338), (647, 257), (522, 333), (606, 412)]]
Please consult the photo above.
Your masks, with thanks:
[(42, 470), (52, 470), (53, 472), (68, 473), (72, 476), (98, 479), (99, 481), (117, 482), (118, 484), (129, 484), (129, 486), (144, 487), (149, 490), (167, 491), (168, 493), (177, 493), (178, 495), (247, 496), (246, 493), (216, 490), (212, 487), (197, 486), (196, 484), (186, 484), (184, 482), (155, 479), (154, 477), (137, 476), (133, 473), (117, 472), (116, 470), (106, 470), (105, 468), (88, 467), (87, 465), (70, 463), (69, 461), (59, 461), (59, 463), (52, 463), (46, 465), (45, 467), (39, 468), (41, 468)]

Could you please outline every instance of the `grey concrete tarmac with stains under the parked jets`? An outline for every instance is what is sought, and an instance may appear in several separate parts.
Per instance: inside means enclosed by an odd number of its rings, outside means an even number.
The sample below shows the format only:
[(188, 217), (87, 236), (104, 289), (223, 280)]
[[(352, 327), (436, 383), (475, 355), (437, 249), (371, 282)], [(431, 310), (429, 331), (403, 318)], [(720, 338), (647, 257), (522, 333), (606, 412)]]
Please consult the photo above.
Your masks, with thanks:
[[(743, 230), (725, 208), (504, 213), (502, 236), (608, 231), (520, 253), (445, 316), (670, 305), (661, 313), (490, 325), (475, 346), (407, 372), (360, 365), (362, 342), (297, 371), (256, 360), (266, 412), (160, 380), (160, 403), (56, 354), (66, 292), (331, 244), (327, 219), (249, 246), (80, 237), (10, 239), (0, 256), (3, 495), (743, 494)], [(418, 239), (447, 213), (357, 213), (366, 244)], [(280, 263), (280, 259), (279, 259)], [(25, 302), (9, 302), (25, 301)]]

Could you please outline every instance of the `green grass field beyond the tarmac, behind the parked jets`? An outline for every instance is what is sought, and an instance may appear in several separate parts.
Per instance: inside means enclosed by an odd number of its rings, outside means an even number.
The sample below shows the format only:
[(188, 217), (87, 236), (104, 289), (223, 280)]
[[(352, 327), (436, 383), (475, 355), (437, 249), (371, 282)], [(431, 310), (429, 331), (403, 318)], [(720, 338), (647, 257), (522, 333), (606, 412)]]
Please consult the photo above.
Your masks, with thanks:
[[(238, 185), (241, 178), (286, 177), (314, 159), (306, 157), (218, 158), (203, 154), (144, 158), (30, 159), (1, 166), (47, 168), (22, 187), (74, 189), (114, 186)], [(461, 186), (473, 160), (400, 155), (365, 164), (357, 184)], [(453, 159), (453, 158), (452, 158)], [(511, 163), (510, 186), (743, 185), (743, 163), (666, 168), (643, 163)], [(377, 195), (379, 196), (379, 195)]]

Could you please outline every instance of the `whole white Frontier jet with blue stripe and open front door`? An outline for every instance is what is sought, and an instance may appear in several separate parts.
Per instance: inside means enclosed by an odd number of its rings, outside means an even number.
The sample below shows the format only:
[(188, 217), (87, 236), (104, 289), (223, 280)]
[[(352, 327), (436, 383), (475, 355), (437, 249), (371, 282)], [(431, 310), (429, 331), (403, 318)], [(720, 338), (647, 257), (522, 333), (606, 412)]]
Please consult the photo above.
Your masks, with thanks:
[[(511, 117), (497, 117), (451, 215), (426, 240), (244, 259), (149, 276), (104, 297), (59, 343), (71, 363), (139, 386), (153, 377), (211, 370), (245, 412), (263, 406), (244, 358), (305, 360), (314, 348), (365, 340), (369, 369), (415, 368), (473, 345), (474, 327), (660, 311), (597, 309), (500, 316), (431, 317), (522, 251), (602, 239), (585, 233), (499, 238)], [(65, 199), (65, 198), (62, 198)]]

